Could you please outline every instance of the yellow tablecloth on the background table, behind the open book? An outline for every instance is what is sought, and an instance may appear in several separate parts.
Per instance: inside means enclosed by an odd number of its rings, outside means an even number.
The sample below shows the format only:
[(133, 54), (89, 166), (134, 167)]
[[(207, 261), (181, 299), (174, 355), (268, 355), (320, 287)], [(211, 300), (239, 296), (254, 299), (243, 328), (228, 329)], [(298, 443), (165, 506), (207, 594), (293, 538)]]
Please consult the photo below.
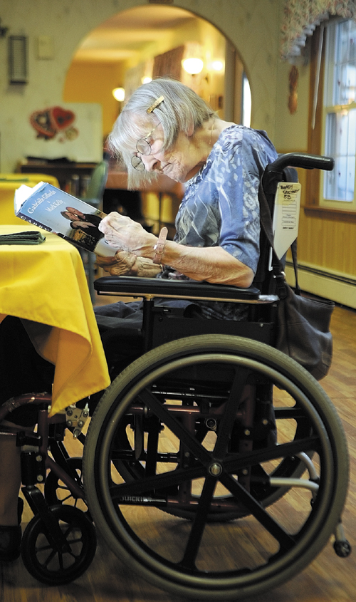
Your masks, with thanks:
[(38, 182), (48, 182), (59, 188), (56, 177), (46, 174), (1, 174), (0, 173), (0, 224), (23, 226), (26, 222), (16, 217), (14, 212), (15, 190), (21, 185), (31, 188)]

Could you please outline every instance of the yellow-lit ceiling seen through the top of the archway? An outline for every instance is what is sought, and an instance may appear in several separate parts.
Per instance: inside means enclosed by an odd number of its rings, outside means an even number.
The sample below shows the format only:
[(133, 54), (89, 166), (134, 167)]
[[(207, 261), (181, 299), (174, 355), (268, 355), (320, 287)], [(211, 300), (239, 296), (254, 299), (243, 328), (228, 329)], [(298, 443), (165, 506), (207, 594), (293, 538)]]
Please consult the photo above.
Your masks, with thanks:
[(126, 61), (197, 17), (173, 6), (140, 6), (112, 16), (93, 29), (75, 53), (75, 61)]

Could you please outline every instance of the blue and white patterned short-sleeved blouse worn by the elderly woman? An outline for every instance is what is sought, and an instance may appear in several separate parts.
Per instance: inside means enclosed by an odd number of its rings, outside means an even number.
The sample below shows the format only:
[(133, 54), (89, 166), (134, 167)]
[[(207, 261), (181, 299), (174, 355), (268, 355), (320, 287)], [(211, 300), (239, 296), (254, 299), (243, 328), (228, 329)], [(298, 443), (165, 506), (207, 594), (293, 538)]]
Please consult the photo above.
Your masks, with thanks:
[[(255, 273), (259, 257), (258, 186), (263, 170), (278, 157), (266, 132), (243, 125), (223, 130), (206, 164), (192, 180), (176, 218), (174, 241), (221, 246)], [(167, 269), (164, 276), (174, 277)], [(203, 316), (243, 319), (236, 303), (199, 302)]]

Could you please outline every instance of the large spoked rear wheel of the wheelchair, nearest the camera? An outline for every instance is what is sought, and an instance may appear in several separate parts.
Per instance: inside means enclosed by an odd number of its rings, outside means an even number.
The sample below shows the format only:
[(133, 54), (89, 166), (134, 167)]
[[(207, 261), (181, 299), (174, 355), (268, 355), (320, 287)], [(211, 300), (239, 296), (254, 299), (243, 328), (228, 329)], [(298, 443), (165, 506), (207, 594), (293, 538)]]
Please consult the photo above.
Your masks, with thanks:
[(83, 456), (112, 551), (204, 601), (262, 593), (307, 566), (335, 530), (347, 479), (345, 435), (320, 385), (283, 353), (231, 336), (181, 339), (132, 363), (103, 395)]

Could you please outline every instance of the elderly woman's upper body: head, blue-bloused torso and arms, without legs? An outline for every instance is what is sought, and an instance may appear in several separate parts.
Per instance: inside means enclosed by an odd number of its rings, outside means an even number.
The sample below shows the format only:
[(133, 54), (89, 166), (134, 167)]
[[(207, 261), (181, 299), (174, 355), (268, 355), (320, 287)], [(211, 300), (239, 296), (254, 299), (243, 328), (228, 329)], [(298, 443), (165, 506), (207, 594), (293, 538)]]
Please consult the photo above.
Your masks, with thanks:
[[(277, 157), (266, 133), (221, 120), (187, 86), (157, 79), (132, 94), (108, 145), (124, 162), (129, 186), (164, 174), (184, 182), (186, 192), (174, 241), (164, 238), (165, 229), (157, 239), (128, 217), (105, 217), (99, 228), (118, 249), (114, 257), (98, 259), (106, 271), (252, 284), (259, 256), (258, 185)], [(204, 318), (244, 317), (244, 308), (234, 303), (199, 306)], [(95, 313), (99, 324), (105, 323), (102, 316), (119, 324), (127, 308), (114, 303)]]

